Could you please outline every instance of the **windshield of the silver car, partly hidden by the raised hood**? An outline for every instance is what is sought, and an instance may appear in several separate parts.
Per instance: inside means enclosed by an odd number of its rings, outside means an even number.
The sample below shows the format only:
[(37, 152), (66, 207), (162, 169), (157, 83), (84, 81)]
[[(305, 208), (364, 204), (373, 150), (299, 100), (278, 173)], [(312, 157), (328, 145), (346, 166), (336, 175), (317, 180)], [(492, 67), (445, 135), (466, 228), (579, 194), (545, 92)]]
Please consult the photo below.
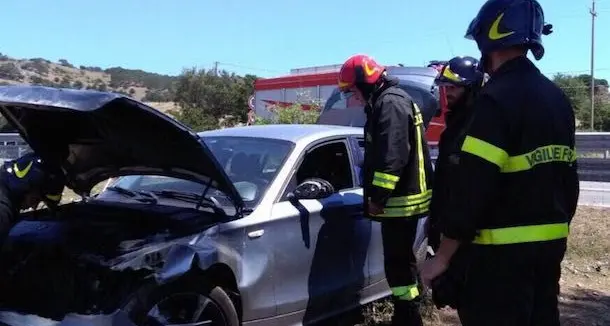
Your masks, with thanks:
[[(203, 137), (203, 140), (242, 196), (246, 208), (250, 209), (258, 205), (294, 147), (292, 142), (269, 138), (216, 136)], [(138, 196), (143, 201), (158, 201), (165, 197), (192, 203), (204, 189), (202, 184), (177, 178), (131, 175), (119, 178), (105, 193), (120, 192), (130, 197)], [(105, 197), (103, 195), (101, 198)], [(228, 198), (216, 189), (209, 189), (206, 198), (225, 210), (231, 209), (226, 207), (232, 206)], [(205, 201), (210, 202), (207, 199)]]

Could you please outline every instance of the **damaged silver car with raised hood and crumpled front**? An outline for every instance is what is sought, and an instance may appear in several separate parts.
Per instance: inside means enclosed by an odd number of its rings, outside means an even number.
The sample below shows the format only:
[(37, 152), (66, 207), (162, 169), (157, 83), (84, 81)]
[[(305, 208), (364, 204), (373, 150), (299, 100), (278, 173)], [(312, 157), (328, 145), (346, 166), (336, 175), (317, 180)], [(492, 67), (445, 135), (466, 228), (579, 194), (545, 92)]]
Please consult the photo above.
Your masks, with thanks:
[(0, 111), (83, 198), (11, 230), (0, 325), (300, 325), (390, 293), (361, 128), (197, 134), (119, 94), (40, 86), (0, 87)]

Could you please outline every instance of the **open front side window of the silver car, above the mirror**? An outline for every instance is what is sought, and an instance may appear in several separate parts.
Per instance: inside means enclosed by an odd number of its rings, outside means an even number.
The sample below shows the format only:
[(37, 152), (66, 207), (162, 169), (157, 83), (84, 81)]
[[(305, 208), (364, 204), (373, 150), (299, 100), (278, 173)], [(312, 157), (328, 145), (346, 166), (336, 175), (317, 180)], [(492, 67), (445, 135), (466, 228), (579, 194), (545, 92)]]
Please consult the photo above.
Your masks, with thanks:
[(309, 178), (324, 179), (330, 182), (336, 191), (354, 188), (351, 162), (345, 142), (327, 143), (305, 154), (286, 187), (282, 200), (285, 200), (288, 193)]

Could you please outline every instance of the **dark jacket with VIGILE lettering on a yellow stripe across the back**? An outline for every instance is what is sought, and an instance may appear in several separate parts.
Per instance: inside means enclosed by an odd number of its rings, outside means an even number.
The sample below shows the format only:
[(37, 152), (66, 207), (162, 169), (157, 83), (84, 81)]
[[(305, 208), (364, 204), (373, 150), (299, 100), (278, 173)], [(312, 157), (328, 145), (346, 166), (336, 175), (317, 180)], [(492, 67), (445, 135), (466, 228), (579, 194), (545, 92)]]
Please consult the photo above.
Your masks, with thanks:
[(526, 57), (503, 64), (474, 101), (441, 232), (478, 245), (566, 238), (579, 194), (574, 139), (563, 91)]

